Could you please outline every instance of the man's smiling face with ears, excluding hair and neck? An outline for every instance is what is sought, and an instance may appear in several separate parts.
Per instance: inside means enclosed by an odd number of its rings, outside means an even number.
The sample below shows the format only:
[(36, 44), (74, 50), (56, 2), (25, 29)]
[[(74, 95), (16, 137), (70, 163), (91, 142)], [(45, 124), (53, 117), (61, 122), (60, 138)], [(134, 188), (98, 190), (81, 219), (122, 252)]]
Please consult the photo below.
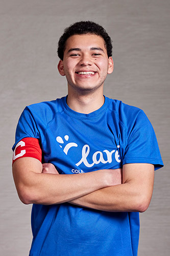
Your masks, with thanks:
[(108, 58), (101, 36), (73, 35), (66, 41), (64, 58), (59, 61), (58, 70), (66, 76), (68, 92), (89, 93), (103, 89), (107, 74), (113, 71), (113, 60)]

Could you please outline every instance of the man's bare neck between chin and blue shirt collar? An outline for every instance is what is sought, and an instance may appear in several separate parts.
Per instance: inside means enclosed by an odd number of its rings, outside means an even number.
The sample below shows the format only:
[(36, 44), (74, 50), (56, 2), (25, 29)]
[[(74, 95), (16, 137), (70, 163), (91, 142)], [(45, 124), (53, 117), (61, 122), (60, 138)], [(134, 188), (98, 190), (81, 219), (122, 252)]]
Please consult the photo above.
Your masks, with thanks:
[(86, 95), (73, 94), (68, 91), (67, 104), (70, 109), (79, 113), (89, 114), (96, 111), (101, 108), (104, 101), (103, 90)]

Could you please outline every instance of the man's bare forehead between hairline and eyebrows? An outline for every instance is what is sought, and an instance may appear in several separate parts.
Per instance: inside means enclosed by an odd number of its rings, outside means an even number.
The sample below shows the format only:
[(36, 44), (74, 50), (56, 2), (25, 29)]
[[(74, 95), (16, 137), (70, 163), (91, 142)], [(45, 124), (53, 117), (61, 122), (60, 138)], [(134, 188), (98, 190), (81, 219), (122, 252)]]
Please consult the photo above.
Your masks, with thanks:
[(95, 34), (82, 34), (82, 35), (72, 35), (66, 40), (65, 51), (70, 48), (80, 48), (80, 49), (90, 49), (93, 47), (100, 47), (106, 51), (104, 39)]

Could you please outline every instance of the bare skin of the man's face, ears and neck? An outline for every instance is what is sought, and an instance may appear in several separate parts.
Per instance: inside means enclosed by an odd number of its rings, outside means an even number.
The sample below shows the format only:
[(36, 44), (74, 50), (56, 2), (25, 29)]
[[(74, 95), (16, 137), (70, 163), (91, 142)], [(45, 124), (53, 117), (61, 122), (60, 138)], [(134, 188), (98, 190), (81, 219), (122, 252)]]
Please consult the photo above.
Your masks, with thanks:
[[(102, 37), (93, 34), (69, 37), (58, 70), (66, 76), (67, 104), (72, 110), (88, 114), (103, 105), (104, 81), (113, 72), (113, 60), (107, 56)], [(81, 71), (95, 73), (77, 74)]]

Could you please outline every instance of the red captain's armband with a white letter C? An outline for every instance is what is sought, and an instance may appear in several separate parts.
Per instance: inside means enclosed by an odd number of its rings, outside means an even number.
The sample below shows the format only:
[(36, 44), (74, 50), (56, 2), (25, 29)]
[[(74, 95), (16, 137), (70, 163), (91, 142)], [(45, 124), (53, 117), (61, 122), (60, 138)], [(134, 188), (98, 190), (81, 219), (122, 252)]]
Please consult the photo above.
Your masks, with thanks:
[(23, 138), (15, 146), (12, 164), (21, 157), (33, 157), (42, 160), (42, 150), (39, 140), (35, 138)]

